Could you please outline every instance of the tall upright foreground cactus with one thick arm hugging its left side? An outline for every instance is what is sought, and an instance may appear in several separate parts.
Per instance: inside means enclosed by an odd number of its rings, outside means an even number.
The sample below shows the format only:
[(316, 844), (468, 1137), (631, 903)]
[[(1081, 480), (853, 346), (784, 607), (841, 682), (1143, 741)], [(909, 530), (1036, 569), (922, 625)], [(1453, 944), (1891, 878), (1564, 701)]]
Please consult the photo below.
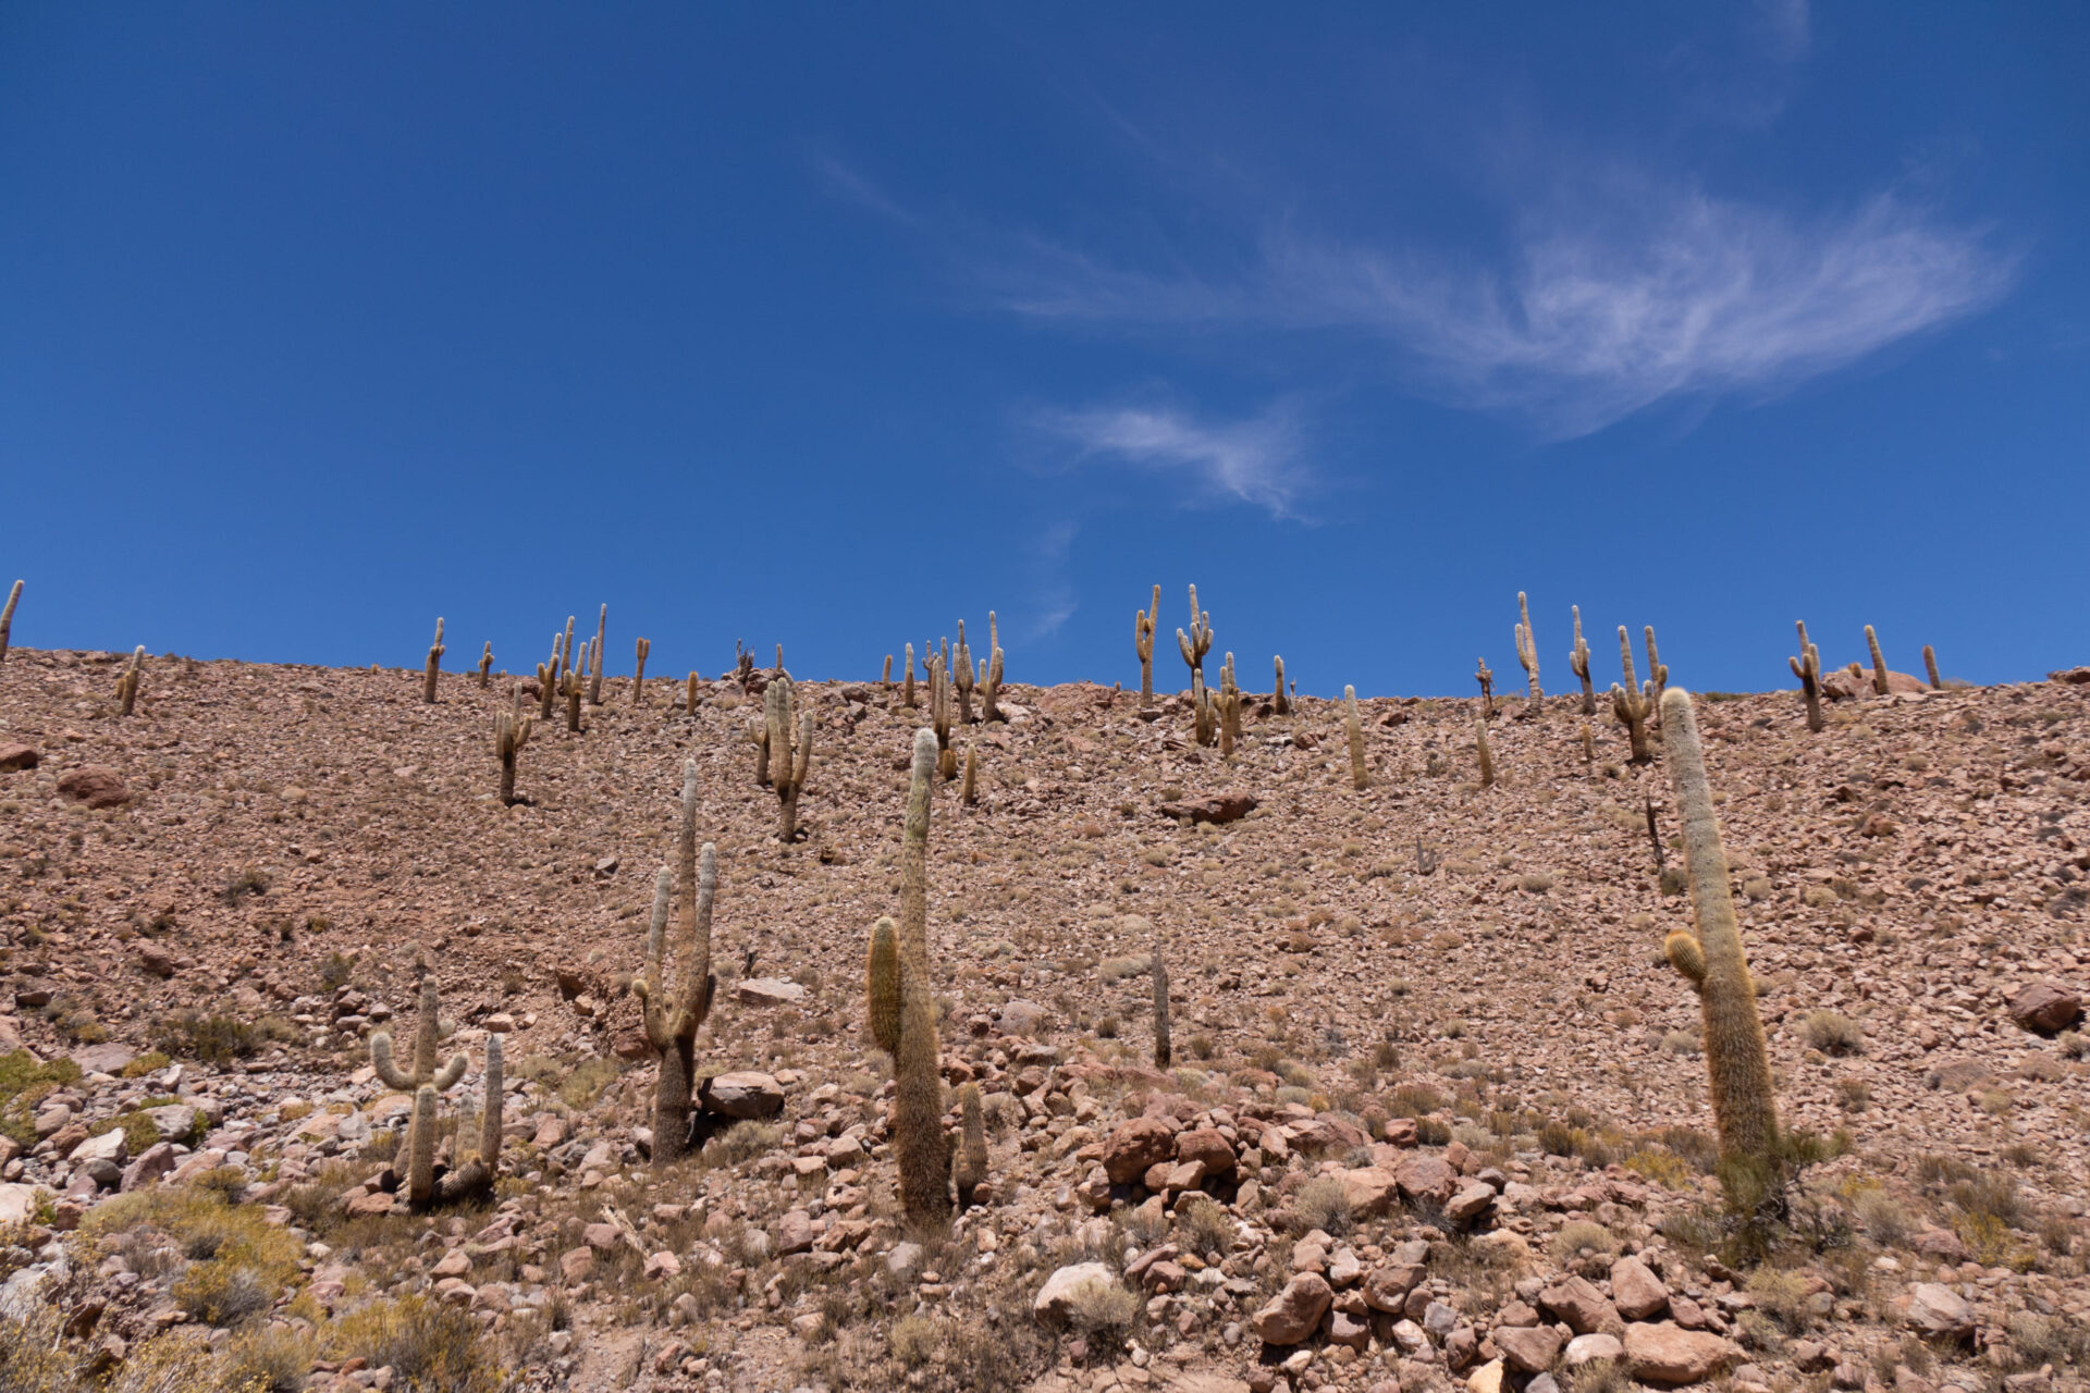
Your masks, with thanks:
[[(943, 1073), (928, 971), (928, 812), (934, 766), (936, 731), (915, 731), (901, 833), (901, 927), (884, 965), (880, 959), (890, 921), (872, 929), (867, 1015), (872, 1038), (892, 1055), (892, 1149), (901, 1170), (901, 1209), (909, 1226), (940, 1232), (951, 1222), (951, 1138), (943, 1130)], [(897, 971), (890, 959), (897, 959)]]

